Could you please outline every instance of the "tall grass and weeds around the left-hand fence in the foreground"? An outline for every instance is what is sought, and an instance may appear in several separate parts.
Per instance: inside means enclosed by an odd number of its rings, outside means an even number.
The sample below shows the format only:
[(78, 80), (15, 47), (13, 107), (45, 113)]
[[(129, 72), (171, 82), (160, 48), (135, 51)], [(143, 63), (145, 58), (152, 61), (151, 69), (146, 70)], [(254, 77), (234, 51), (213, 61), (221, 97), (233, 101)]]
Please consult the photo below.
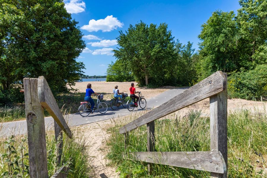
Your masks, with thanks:
[[(1, 128), (0, 128), (1, 129)], [(88, 143), (77, 127), (71, 127), (72, 139), (63, 134), (61, 162), (70, 167), (69, 178), (93, 176)], [(61, 166), (57, 164), (57, 145), (54, 131), (46, 131), (48, 174), (52, 176)], [(29, 177), (27, 135), (0, 139), (0, 177)]]

